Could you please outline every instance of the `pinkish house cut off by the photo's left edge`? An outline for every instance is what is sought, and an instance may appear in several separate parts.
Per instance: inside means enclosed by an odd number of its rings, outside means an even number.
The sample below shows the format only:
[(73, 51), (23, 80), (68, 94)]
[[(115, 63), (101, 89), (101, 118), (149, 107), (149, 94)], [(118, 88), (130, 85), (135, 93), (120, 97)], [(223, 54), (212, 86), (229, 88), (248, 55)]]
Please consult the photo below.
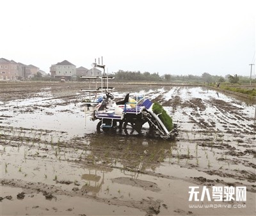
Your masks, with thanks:
[(19, 79), (21, 72), (19, 66), (15, 61), (0, 58), (0, 80), (1, 81), (15, 81)]

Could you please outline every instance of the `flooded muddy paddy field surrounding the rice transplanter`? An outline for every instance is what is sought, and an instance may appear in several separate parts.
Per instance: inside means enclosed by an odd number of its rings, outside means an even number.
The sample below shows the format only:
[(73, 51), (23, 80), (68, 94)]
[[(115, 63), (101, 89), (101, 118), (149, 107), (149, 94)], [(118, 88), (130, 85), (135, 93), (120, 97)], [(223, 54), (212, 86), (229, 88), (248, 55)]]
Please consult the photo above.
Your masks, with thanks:
[[(1, 215), (255, 215), (255, 103), (204, 87), (115, 84), (116, 101), (138, 93), (164, 106), (179, 127), (166, 141), (97, 133), (83, 88), (1, 83)], [(189, 201), (189, 187), (204, 186), (211, 201)], [(246, 187), (246, 200), (221, 190), (214, 201), (216, 186)]]

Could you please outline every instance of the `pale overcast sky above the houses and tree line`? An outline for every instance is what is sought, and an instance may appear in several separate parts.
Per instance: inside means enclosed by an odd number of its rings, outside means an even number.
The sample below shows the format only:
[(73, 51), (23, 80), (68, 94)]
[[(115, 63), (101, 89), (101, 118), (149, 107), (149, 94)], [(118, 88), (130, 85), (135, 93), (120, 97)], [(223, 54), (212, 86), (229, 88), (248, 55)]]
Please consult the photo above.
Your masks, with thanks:
[[(254, 0), (0, 0), (0, 58), (108, 72), (250, 75)], [(255, 66), (253, 66), (255, 73)]]

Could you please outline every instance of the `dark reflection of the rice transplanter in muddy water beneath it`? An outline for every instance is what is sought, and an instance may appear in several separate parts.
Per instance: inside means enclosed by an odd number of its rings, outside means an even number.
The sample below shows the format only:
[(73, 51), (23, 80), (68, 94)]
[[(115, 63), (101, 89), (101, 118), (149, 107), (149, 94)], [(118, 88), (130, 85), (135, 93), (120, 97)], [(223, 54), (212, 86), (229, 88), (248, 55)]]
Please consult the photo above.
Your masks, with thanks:
[(90, 135), (91, 157), (97, 158), (98, 163), (132, 172), (154, 171), (176, 146), (175, 141), (148, 139), (143, 135)]

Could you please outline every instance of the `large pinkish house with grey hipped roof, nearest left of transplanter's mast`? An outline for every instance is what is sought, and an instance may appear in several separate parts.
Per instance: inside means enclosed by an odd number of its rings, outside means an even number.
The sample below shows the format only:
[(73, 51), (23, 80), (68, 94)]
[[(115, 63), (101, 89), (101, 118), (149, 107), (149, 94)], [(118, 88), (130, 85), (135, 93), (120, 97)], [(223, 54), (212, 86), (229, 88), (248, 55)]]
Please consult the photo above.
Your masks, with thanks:
[(73, 65), (67, 60), (61, 61), (56, 65), (50, 67), (52, 77), (60, 78), (64, 77), (65, 80), (70, 80), (71, 77), (76, 76), (76, 65)]

